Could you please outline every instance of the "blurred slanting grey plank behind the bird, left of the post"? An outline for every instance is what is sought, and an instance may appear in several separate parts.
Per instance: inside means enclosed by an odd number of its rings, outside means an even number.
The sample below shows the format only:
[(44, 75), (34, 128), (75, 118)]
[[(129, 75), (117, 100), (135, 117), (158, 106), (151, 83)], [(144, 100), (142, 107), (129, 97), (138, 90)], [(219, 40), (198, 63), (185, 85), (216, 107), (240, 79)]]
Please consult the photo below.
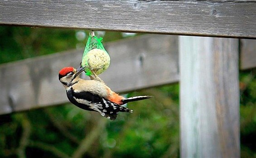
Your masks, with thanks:
[[(117, 92), (177, 82), (177, 42), (177, 36), (144, 35), (105, 43), (111, 65), (100, 77)], [(82, 53), (73, 50), (1, 65), (0, 114), (68, 102), (58, 71), (78, 67)]]

